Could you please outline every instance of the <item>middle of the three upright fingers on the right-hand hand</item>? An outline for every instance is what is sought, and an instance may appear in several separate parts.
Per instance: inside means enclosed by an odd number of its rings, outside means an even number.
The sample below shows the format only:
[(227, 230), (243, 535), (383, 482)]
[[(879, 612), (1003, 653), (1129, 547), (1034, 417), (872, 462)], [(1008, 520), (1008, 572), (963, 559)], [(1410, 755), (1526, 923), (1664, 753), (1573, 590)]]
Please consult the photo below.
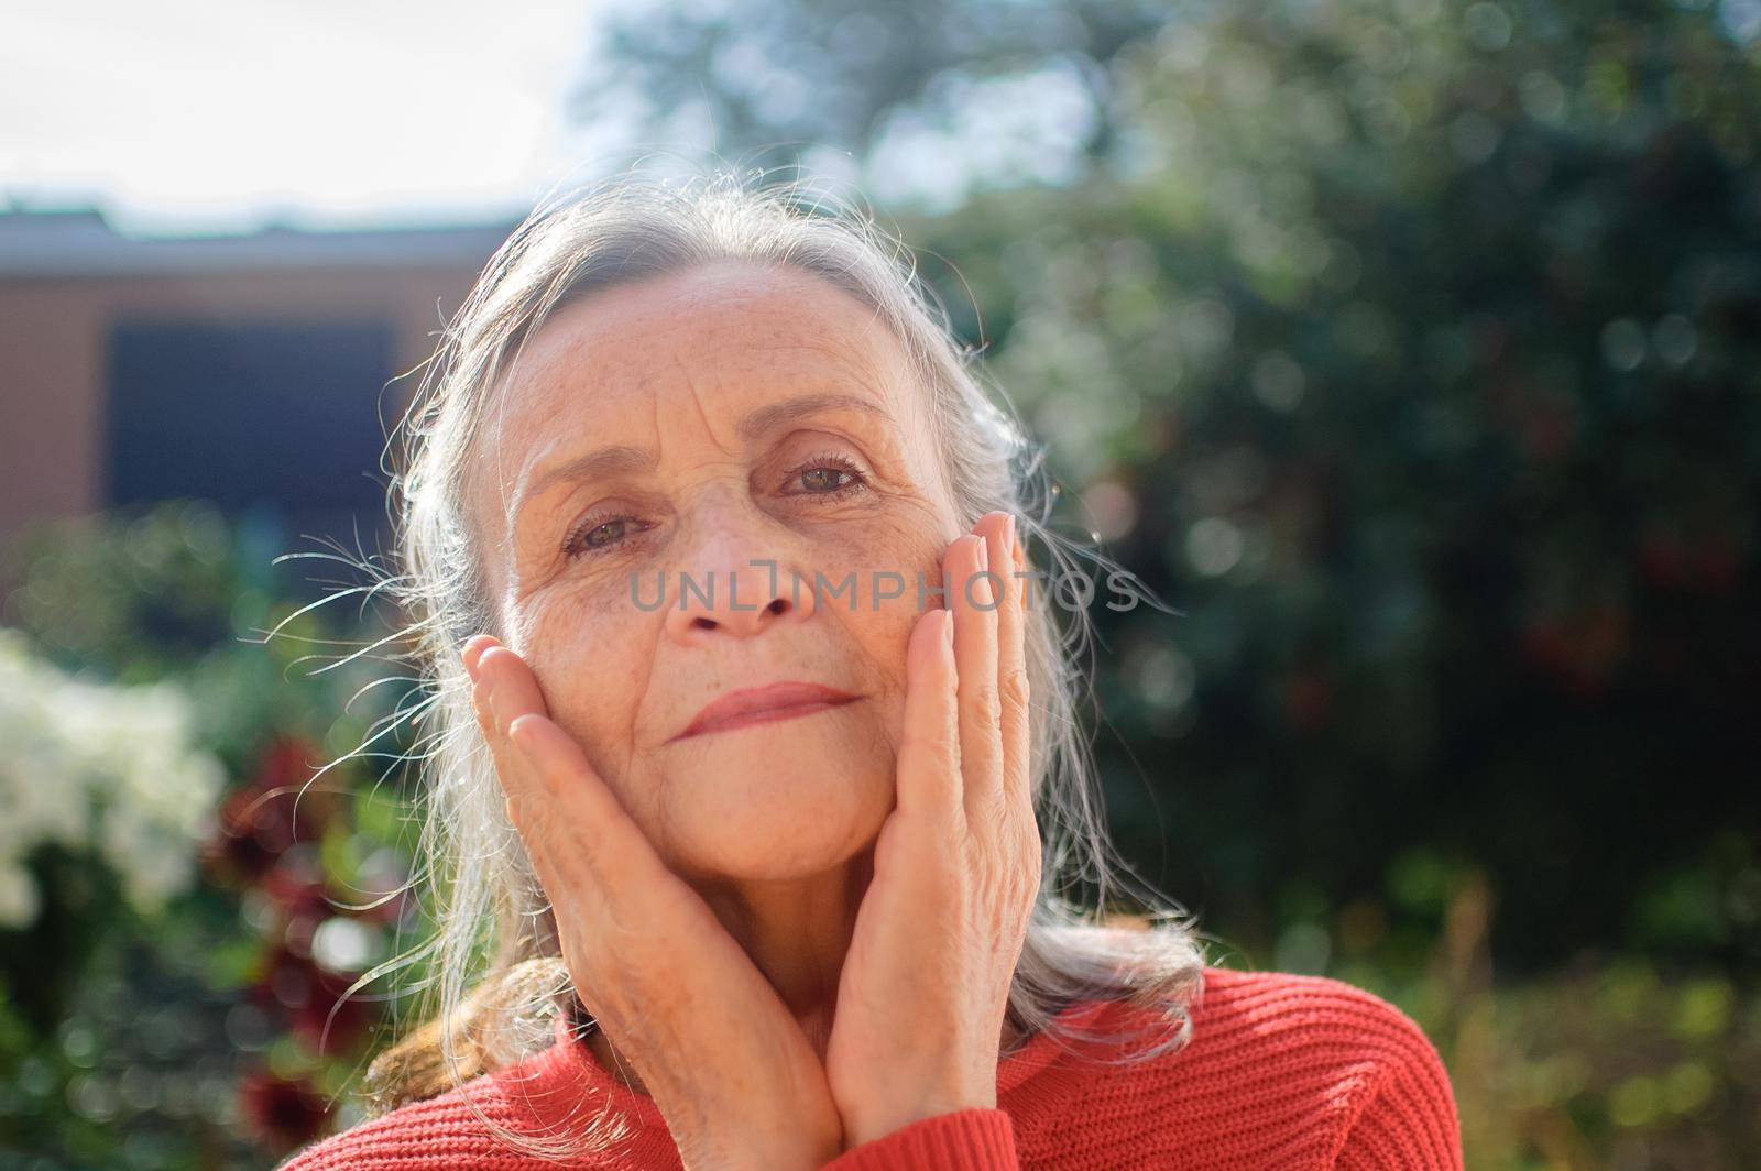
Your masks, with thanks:
[(960, 773), (967, 821), (1002, 814), (1002, 729), (997, 697), (997, 593), (984, 539), (967, 534), (949, 549), (954, 671), (960, 676)]

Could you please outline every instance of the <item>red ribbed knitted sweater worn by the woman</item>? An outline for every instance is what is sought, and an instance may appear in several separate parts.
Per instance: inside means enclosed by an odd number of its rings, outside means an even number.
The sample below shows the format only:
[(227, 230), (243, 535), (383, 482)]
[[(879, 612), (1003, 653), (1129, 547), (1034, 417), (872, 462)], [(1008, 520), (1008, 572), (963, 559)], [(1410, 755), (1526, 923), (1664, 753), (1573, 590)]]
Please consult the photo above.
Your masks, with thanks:
[[(1127, 1013), (1099, 1002), (1062, 1020), (1113, 1030), (1132, 1023)], [(282, 1171), (555, 1171), (500, 1145), (463, 1094), (521, 1132), (565, 1127), (609, 1104), (627, 1136), (567, 1166), (680, 1166), (653, 1101), (616, 1081), (562, 1016), (556, 1044), (542, 1053), (322, 1139)], [(1460, 1166), (1449, 1078), (1400, 1009), (1335, 979), (1205, 968), (1185, 1048), (1106, 1065), (1039, 1034), (998, 1064), (997, 1109), (925, 1118), (845, 1152), (828, 1171)]]

